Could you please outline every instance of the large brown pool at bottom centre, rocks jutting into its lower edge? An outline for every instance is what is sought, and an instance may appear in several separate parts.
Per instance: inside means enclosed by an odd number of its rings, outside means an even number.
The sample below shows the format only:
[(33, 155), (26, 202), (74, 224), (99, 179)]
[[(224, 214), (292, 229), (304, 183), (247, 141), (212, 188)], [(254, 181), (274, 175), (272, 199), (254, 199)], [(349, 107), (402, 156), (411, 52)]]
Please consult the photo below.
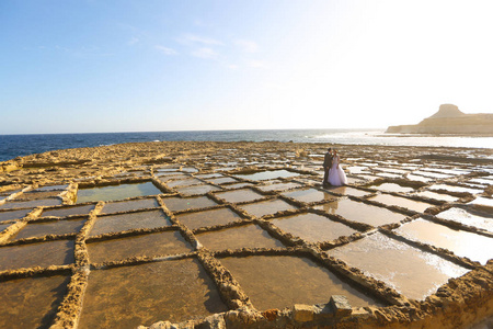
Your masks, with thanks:
[(295, 304), (324, 304), (332, 295), (345, 295), (354, 307), (379, 305), (371, 296), (305, 257), (229, 257), (219, 261), (260, 310), (283, 309)]

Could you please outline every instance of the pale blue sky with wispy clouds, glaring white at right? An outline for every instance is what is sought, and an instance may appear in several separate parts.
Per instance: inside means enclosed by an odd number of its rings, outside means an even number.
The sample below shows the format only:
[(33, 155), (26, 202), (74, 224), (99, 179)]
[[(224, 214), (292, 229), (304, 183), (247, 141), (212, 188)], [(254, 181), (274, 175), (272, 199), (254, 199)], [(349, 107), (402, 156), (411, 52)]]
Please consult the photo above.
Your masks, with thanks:
[(493, 113), (493, 1), (2, 0), (0, 134)]

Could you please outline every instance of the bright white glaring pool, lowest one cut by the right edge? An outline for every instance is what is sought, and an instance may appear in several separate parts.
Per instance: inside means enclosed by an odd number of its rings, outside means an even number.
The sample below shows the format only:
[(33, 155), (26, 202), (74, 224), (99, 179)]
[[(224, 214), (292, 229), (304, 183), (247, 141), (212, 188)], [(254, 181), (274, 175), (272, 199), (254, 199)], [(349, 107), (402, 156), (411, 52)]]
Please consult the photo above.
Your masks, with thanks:
[(414, 241), (448, 249), (483, 265), (493, 258), (493, 238), (451, 229), (425, 219), (406, 223), (397, 228), (395, 232)]

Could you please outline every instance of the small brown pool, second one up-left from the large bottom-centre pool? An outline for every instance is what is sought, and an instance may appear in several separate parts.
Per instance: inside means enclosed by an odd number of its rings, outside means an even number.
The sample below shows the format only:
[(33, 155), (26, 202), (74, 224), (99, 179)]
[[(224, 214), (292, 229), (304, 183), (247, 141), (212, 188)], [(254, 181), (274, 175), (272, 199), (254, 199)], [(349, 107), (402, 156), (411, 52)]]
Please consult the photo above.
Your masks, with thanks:
[(182, 214), (177, 215), (176, 219), (190, 229), (196, 229), (207, 226), (225, 225), (231, 222), (241, 220), (242, 218), (229, 208), (220, 208)]

